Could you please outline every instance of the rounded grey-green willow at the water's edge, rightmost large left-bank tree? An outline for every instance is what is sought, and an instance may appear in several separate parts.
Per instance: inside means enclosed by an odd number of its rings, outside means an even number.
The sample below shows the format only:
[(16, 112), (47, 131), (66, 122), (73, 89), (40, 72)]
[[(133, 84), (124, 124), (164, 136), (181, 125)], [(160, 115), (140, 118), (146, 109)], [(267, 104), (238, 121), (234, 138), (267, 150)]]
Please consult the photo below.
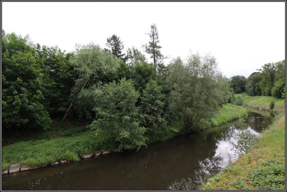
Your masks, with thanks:
[[(214, 57), (191, 54), (184, 63), (174, 59), (168, 66), (172, 86), (169, 110), (181, 120), (187, 132), (201, 120), (210, 120), (224, 102), (221, 73)], [(227, 87), (228, 88), (228, 87)]]

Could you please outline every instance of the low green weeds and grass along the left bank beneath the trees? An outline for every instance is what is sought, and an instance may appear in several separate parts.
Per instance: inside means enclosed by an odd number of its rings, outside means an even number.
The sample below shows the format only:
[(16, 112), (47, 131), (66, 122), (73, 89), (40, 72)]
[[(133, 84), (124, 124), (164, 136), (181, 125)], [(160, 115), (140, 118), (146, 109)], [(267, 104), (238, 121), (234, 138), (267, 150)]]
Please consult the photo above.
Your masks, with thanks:
[[(218, 111), (218, 115), (212, 118), (212, 123), (204, 123), (201, 129), (211, 126), (217, 126), (228, 121), (243, 117), (247, 115), (247, 110), (243, 107), (234, 105), (223, 105)], [(174, 131), (166, 133), (158, 133), (150, 142), (163, 141), (174, 136), (184, 133), (184, 128), (179, 122), (172, 122), (169, 124)], [(80, 131), (82, 132), (80, 132)], [(39, 136), (38, 139), (30, 141), (21, 141), (8, 146), (2, 147), (2, 171), (8, 170), (9, 166), (15, 163), (27, 165), (31, 168), (47, 166), (61, 160), (79, 161), (80, 157), (85, 154), (103, 152), (107, 148), (101, 148), (100, 140), (95, 135), (95, 131), (86, 131), (86, 128), (73, 128), (71, 131), (63, 131), (61, 138), (47, 138), (43, 139)], [(47, 136), (45, 135), (45, 138)], [(112, 143), (111, 149), (117, 147), (118, 143)], [(109, 149), (109, 151), (111, 151)]]

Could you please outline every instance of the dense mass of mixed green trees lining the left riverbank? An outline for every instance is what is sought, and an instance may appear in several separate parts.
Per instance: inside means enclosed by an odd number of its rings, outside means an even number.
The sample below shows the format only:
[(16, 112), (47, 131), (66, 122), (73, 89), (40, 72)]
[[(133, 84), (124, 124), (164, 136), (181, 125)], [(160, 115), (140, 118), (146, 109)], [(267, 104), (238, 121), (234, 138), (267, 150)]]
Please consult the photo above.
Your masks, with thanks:
[(88, 44), (65, 53), (2, 31), (3, 129), (88, 119), (100, 148), (132, 149), (176, 134), (171, 122), (200, 129), (234, 100), (213, 56), (191, 53), (164, 65), (156, 25), (148, 35), (143, 48), (152, 63), (135, 47), (123, 53), (115, 34), (109, 49)]

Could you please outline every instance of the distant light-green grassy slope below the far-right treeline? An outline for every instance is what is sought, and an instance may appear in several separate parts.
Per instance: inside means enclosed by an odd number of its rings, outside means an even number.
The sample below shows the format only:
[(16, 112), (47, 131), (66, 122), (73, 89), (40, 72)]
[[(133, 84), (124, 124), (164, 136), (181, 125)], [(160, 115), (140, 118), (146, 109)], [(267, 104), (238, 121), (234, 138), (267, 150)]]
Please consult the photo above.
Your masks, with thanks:
[(285, 108), (285, 99), (278, 99), (272, 96), (248, 96), (246, 93), (234, 94), (235, 98), (239, 95), (241, 95), (243, 97), (243, 101), (248, 104), (269, 107), (271, 101), (274, 101), (275, 107)]

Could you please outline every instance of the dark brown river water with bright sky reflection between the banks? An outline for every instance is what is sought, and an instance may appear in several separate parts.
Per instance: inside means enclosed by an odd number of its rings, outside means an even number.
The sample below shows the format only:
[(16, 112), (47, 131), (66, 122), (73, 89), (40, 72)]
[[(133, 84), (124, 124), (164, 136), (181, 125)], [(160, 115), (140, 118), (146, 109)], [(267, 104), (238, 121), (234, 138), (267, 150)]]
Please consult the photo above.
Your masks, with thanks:
[[(248, 129), (260, 134), (272, 115), (250, 112)], [(183, 181), (201, 181), (237, 156), (230, 150), (234, 122), (200, 133), (149, 144), (139, 151), (110, 153), (66, 165), (2, 176), (2, 190), (168, 190)]]

